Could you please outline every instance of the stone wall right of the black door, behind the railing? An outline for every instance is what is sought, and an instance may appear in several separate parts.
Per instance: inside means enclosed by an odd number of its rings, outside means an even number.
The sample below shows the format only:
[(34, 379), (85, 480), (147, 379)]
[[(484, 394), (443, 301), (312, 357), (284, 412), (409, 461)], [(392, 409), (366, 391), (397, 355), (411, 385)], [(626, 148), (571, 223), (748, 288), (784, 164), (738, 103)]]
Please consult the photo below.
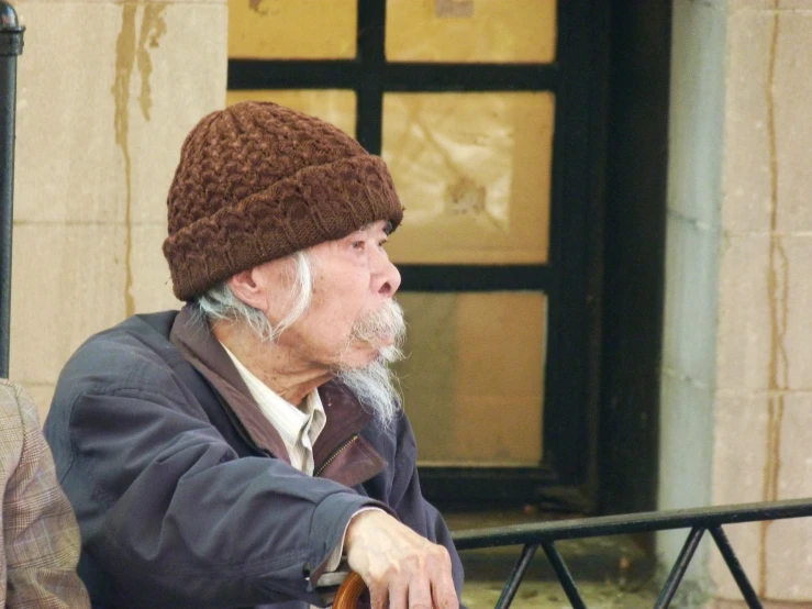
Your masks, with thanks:
[[(676, 0), (674, 25), (660, 507), (810, 497), (812, 3)], [(811, 521), (728, 535), (767, 606), (809, 607)]]

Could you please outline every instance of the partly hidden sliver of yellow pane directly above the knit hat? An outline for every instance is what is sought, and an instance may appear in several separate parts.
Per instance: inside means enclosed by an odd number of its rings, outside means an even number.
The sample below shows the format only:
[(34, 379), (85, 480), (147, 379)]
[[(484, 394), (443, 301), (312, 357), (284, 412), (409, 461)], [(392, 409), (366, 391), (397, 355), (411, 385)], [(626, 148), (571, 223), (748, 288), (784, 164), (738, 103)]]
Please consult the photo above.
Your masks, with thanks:
[(226, 91), (226, 106), (241, 101), (272, 101), (318, 117), (355, 137), (355, 91), (341, 89)]

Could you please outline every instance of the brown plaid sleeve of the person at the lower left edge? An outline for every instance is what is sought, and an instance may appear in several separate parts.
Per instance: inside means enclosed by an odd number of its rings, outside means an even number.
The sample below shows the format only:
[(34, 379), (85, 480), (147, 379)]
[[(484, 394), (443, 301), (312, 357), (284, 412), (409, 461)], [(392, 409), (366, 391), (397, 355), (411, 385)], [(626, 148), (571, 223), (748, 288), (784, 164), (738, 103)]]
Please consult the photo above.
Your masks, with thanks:
[[(36, 408), (19, 386), (7, 385), (18, 409), (22, 452), (7, 473), (3, 536), (8, 569), (5, 607), (11, 609), (89, 608), (76, 574), (79, 530), (73, 509), (56, 479), (51, 450), (40, 430)], [(9, 412), (11, 413), (11, 412)], [(0, 430), (4, 434), (7, 430)], [(0, 442), (0, 446), (7, 446)]]

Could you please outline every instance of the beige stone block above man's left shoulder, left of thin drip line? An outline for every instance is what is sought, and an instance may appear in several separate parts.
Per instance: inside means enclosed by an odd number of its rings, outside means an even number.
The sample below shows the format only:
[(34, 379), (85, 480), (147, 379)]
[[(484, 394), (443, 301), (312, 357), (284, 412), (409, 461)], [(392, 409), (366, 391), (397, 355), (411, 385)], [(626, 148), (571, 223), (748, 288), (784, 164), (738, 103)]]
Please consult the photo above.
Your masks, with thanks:
[(12, 378), (26, 385), (55, 383), (88, 336), (124, 318), (124, 244), (118, 226), (15, 228)]

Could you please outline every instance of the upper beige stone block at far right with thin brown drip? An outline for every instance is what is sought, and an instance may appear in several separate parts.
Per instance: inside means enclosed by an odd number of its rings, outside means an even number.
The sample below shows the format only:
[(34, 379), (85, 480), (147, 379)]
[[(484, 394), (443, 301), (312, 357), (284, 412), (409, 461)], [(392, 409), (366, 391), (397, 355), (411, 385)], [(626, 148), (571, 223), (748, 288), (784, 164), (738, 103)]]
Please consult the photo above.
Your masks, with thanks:
[(812, 230), (812, 121), (798, 103), (812, 95), (805, 60), (812, 10), (738, 10), (728, 31), (723, 224), (731, 231), (766, 231), (772, 223), (781, 232)]

